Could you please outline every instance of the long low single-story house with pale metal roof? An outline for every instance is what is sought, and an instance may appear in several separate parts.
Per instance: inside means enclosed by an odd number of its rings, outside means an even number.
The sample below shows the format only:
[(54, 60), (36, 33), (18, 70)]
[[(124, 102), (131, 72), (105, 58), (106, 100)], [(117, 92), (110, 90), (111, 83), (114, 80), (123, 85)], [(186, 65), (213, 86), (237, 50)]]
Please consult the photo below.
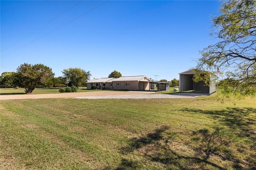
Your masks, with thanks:
[[(92, 79), (86, 82), (87, 89), (112, 89), (112, 90), (131, 90), (131, 91), (168, 91), (169, 83), (156, 82), (147, 76), (128, 76), (119, 78)], [(156, 89), (156, 86), (158, 87)]]

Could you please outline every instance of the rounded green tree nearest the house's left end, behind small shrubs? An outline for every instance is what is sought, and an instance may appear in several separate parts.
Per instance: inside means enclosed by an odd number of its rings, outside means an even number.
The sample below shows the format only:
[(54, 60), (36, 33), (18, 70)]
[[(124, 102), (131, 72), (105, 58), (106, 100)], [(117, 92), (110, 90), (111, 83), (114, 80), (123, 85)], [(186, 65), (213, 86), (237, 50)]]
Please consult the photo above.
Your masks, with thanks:
[(82, 87), (86, 85), (86, 81), (90, 80), (90, 71), (85, 71), (80, 68), (72, 68), (64, 69), (62, 71), (63, 77), (67, 79), (68, 86), (76, 86), (76, 87)]

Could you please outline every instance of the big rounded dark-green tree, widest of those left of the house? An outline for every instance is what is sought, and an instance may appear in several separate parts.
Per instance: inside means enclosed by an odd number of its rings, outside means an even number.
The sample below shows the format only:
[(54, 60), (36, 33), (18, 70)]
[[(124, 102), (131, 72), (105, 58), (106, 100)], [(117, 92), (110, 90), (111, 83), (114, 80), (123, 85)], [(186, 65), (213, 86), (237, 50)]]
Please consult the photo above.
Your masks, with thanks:
[(43, 64), (31, 65), (24, 63), (17, 68), (16, 85), (32, 93), (36, 87), (46, 85), (54, 77), (52, 69)]

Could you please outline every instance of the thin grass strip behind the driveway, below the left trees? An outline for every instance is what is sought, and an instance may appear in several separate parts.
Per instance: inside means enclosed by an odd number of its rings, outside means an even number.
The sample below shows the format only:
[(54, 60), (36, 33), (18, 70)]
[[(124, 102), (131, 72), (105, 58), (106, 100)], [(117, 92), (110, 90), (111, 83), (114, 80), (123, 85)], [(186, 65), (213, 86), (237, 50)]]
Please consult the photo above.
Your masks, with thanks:
[[(78, 91), (74, 92), (74, 93), (89, 92), (89, 91), (101, 91), (101, 90), (87, 90), (85, 88), (79, 88)], [(59, 89), (38, 88), (38, 89), (34, 89), (34, 91), (31, 94), (33, 95), (33, 94), (54, 94), (54, 93), (60, 93)], [(25, 89), (23, 89), (23, 88), (0, 89), (0, 95), (22, 95), (22, 94), (26, 94)]]

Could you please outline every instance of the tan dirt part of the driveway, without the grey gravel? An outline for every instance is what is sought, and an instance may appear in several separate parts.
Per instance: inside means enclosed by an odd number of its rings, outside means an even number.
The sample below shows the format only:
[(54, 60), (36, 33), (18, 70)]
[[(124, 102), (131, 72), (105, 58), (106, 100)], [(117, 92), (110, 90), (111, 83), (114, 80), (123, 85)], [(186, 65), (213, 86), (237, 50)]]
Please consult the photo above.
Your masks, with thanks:
[(151, 91), (92, 91), (81, 93), (55, 93), (55, 94), (23, 94), (23, 95), (0, 95), (0, 100), (10, 99), (45, 99), (45, 98), (71, 98), (86, 96), (110, 96), (110, 95), (141, 95), (152, 94)]

